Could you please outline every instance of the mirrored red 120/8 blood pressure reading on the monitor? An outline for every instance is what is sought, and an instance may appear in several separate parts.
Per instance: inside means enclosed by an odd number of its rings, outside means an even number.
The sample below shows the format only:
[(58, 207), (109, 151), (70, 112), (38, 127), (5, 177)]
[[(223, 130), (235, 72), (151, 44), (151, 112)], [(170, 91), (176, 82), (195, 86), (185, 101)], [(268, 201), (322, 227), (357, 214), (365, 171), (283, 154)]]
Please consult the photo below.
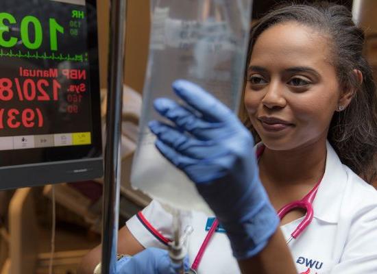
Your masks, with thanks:
[(59, 90), (62, 86), (56, 79), (52, 81), (52, 98), (47, 93), (46, 88), (51, 84), (46, 79), (25, 79), (21, 84), (19, 78), (14, 78), (14, 82), (9, 78), (0, 79), (0, 101), (11, 101), (16, 98), (19, 101), (58, 101)]

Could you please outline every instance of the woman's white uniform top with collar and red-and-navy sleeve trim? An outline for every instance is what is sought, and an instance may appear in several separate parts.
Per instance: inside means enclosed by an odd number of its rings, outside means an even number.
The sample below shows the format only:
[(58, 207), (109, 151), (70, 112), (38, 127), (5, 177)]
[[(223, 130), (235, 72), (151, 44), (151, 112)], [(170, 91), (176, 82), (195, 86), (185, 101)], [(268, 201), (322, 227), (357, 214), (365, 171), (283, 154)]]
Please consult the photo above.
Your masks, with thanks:
[[(298, 273), (377, 273), (377, 191), (341, 164), (329, 144), (313, 210), (311, 224), (289, 244)], [(191, 212), (191, 219), (186, 220), (194, 228), (188, 247), (191, 263), (207, 234), (207, 218), (202, 212)], [(280, 227), (286, 239), (300, 221)], [(166, 249), (162, 242), (173, 238), (172, 216), (157, 201), (126, 225), (144, 247)], [(212, 237), (198, 273), (240, 273), (226, 234), (217, 232)]]

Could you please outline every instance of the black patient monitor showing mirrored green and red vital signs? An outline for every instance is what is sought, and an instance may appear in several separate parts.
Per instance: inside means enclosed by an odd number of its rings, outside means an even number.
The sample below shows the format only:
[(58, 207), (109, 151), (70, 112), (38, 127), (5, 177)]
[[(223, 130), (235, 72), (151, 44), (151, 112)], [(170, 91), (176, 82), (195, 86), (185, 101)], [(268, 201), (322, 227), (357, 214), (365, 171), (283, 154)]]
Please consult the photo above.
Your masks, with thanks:
[(101, 177), (95, 0), (1, 0), (0, 188)]

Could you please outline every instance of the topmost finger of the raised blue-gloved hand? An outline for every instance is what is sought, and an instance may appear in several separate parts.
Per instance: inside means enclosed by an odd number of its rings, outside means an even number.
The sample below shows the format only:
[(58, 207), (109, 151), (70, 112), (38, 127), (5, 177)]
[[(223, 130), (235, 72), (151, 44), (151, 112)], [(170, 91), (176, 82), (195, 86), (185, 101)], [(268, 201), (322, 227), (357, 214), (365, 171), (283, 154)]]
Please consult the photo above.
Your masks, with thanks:
[(192, 82), (177, 80), (173, 82), (173, 90), (178, 97), (200, 112), (208, 121), (226, 122), (234, 117), (226, 105)]

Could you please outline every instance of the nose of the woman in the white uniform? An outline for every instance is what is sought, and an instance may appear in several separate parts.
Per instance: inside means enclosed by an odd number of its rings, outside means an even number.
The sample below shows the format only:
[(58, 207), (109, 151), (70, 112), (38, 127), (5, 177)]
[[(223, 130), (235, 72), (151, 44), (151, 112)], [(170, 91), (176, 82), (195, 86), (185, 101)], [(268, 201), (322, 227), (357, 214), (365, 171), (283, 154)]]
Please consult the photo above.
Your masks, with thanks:
[(280, 81), (271, 81), (266, 87), (265, 92), (262, 103), (266, 108), (284, 108), (287, 104), (287, 101), (284, 98), (284, 85), (280, 84)]

